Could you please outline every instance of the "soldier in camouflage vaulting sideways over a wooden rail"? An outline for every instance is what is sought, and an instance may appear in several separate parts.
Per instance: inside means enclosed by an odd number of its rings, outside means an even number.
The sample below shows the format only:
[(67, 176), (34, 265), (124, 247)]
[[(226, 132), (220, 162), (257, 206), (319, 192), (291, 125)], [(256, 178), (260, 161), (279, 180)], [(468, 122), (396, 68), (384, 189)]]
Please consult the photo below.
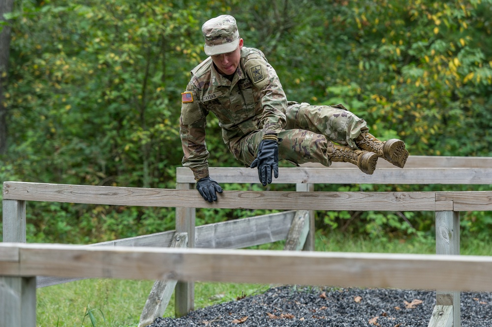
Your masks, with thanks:
[(343, 105), (311, 106), (287, 101), (275, 69), (263, 53), (243, 46), (236, 20), (230, 15), (202, 26), (205, 54), (191, 70), (182, 93), (180, 135), (183, 166), (189, 167), (196, 188), (216, 201), (219, 184), (210, 178), (205, 143), (206, 117), (218, 118), (222, 138), (234, 157), (258, 168), (263, 186), (278, 177), (278, 159), (296, 165), (349, 162), (372, 174), (378, 157), (403, 168), (408, 151), (398, 139), (382, 142), (369, 134), (364, 119)]

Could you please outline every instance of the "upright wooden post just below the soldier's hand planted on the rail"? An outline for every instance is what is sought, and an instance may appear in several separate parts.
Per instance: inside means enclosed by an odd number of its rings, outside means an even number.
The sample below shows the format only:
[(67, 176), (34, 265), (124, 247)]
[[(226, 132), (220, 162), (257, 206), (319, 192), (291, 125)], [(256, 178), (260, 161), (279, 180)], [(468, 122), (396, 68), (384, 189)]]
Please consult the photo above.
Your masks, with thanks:
[[(176, 189), (192, 189), (194, 185), (194, 183), (176, 183)], [(195, 247), (195, 208), (176, 208), (176, 232), (187, 233), (188, 247)], [(174, 304), (176, 317), (182, 317), (194, 310), (194, 287), (193, 282), (178, 281), (176, 284)]]

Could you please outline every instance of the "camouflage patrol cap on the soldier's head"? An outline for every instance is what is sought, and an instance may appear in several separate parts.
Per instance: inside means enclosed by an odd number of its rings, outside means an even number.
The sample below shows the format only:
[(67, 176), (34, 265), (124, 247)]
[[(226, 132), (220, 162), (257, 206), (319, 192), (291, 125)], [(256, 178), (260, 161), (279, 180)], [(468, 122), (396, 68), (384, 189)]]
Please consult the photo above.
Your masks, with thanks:
[(239, 31), (236, 19), (231, 15), (220, 15), (202, 26), (207, 56), (225, 54), (239, 46)]

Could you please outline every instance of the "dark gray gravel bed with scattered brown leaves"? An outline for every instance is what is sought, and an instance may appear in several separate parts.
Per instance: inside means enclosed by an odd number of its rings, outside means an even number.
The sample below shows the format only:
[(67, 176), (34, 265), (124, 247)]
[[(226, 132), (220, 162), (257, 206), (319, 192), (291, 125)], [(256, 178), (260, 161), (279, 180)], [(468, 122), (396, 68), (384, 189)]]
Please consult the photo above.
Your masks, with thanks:
[[(282, 286), (150, 327), (426, 327), (434, 305), (433, 291)], [(492, 326), (492, 294), (461, 294), (461, 326)]]

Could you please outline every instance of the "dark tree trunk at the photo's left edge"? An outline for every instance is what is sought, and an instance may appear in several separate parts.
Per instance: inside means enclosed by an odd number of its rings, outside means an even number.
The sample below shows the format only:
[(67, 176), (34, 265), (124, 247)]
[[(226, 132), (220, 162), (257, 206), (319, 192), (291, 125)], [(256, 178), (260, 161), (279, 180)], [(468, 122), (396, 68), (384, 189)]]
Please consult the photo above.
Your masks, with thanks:
[[(14, 0), (0, 0), (0, 22), (3, 15), (12, 12)], [(7, 85), (8, 57), (10, 52), (10, 24), (3, 25), (0, 31), (0, 154), (7, 149), (7, 104), (4, 99)]]

